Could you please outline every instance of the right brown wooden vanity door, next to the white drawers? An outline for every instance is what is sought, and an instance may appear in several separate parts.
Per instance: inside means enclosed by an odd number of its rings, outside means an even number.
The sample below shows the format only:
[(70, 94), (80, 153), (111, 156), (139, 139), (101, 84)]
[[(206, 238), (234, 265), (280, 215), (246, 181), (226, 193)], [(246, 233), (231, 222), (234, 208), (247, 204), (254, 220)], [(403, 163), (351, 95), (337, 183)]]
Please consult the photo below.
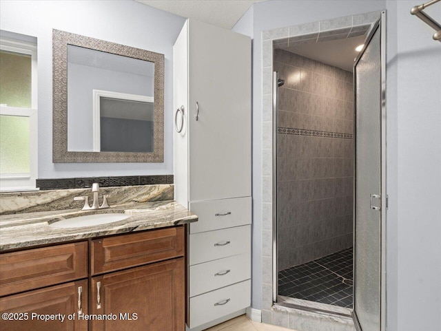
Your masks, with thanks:
[(184, 259), (92, 278), (92, 314), (115, 314), (92, 321), (92, 330), (184, 331)]

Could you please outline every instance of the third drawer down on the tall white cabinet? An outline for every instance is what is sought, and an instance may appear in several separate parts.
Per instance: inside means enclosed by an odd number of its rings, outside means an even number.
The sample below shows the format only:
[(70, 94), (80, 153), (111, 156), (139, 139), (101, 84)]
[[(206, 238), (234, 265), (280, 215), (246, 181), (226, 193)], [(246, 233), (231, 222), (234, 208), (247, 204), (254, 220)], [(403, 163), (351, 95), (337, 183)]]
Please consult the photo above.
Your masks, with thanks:
[(189, 268), (189, 295), (194, 297), (250, 278), (250, 253), (196, 264)]

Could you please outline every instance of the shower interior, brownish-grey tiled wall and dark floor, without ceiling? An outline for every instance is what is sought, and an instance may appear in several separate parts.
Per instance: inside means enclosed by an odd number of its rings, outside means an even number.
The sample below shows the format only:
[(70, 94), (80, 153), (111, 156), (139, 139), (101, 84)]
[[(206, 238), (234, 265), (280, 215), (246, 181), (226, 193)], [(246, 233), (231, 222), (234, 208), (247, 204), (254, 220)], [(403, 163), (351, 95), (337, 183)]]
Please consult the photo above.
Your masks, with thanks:
[(352, 72), (295, 51), (274, 50), (277, 295), (352, 308)]

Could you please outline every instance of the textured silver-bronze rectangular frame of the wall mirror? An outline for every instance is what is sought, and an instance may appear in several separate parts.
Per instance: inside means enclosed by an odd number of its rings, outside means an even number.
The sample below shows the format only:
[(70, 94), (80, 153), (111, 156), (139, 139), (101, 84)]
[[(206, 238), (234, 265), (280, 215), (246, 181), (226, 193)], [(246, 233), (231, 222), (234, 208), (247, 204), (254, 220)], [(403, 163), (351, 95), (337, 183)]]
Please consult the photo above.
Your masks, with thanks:
[[(153, 152), (68, 151), (68, 45), (154, 63)], [(164, 54), (52, 30), (52, 162), (164, 162)]]

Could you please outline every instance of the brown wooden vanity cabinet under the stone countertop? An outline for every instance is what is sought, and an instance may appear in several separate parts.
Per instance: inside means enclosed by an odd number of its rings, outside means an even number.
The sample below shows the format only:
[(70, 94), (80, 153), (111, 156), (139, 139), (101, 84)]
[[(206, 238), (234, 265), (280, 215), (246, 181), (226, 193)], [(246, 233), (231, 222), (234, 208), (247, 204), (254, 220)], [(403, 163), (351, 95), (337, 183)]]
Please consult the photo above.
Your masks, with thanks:
[(184, 255), (184, 226), (3, 253), (0, 330), (184, 331)]

